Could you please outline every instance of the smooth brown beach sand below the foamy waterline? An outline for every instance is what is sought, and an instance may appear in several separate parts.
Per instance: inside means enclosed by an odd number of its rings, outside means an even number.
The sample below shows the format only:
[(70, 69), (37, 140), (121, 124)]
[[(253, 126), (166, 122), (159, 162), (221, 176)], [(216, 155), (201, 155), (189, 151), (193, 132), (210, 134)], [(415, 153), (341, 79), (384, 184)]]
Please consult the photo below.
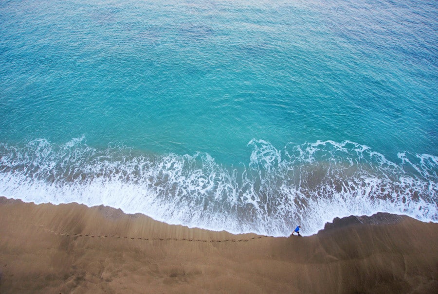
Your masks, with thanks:
[(409, 217), (336, 219), (317, 235), (273, 238), (1, 197), (0, 224), (2, 294), (438, 291), (438, 224)]

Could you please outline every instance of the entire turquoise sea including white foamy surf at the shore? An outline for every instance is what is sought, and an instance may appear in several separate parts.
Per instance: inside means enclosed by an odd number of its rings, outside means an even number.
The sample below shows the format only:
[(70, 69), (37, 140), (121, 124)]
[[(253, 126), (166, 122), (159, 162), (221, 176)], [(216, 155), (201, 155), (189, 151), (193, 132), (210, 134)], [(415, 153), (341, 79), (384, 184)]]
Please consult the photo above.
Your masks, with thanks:
[(2, 1), (0, 194), (231, 232), (438, 220), (435, 1)]

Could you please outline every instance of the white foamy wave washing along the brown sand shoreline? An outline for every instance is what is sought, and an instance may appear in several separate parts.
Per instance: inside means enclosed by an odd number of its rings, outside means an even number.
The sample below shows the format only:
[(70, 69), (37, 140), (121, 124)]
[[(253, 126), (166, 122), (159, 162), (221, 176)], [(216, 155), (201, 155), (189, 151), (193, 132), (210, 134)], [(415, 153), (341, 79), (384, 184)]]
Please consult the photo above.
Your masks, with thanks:
[(168, 224), (232, 233), (316, 233), (334, 217), (406, 214), (438, 221), (438, 157), (399, 153), (399, 162), (350, 141), (248, 143), (249, 163), (210, 155), (98, 150), (85, 138), (0, 143), (0, 194), (35, 203), (77, 202), (143, 213)]

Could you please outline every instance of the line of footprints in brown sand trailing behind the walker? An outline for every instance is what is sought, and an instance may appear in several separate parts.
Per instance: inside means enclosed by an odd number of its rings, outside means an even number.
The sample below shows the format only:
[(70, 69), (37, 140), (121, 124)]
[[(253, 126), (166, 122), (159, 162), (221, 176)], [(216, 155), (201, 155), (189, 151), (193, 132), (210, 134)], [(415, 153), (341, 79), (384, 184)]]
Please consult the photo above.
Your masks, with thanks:
[(143, 240), (143, 241), (186, 241), (186, 242), (204, 242), (204, 243), (220, 243), (220, 242), (249, 242), (256, 239), (261, 239), (267, 236), (258, 236), (250, 239), (225, 239), (225, 240), (199, 240), (199, 239), (188, 239), (188, 238), (134, 238), (129, 236), (118, 236), (118, 235), (91, 235), (91, 234), (65, 234), (58, 233), (49, 229), (44, 229), (46, 232), (51, 232), (55, 235), (66, 236), (66, 237), (82, 237), (82, 238), (117, 238), (117, 239), (128, 239), (128, 240)]

